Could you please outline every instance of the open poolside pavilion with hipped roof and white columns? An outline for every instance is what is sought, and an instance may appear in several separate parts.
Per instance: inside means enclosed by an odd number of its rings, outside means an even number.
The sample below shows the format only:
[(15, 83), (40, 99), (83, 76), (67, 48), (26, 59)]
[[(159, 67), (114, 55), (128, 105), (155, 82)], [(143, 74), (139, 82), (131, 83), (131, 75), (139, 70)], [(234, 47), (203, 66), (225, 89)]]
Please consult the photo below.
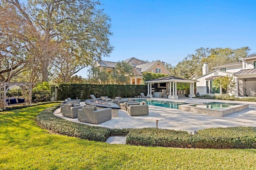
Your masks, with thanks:
[(190, 83), (190, 94), (188, 95), (189, 98), (195, 97), (194, 94), (194, 88), (195, 88), (195, 82), (198, 82), (197, 80), (190, 80), (186, 78), (179, 78), (175, 76), (166, 76), (161, 78), (156, 78), (153, 80), (145, 81), (144, 83), (148, 84), (148, 94), (147, 96), (153, 97), (152, 95), (152, 84), (154, 83), (169, 83), (169, 90), (172, 91), (172, 93), (169, 93), (168, 98), (169, 99), (178, 99), (177, 95), (177, 83)]

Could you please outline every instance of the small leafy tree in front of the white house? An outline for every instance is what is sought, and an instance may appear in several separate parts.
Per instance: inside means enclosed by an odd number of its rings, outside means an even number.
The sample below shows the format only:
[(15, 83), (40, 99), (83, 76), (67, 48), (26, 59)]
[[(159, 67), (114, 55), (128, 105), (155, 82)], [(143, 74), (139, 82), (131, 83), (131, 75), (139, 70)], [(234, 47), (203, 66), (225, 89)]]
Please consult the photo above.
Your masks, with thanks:
[(232, 92), (236, 86), (236, 82), (233, 80), (232, 76), (220, 76), (213, 81), (213, 85), (220, 87), (226, 91), (226, 96)]

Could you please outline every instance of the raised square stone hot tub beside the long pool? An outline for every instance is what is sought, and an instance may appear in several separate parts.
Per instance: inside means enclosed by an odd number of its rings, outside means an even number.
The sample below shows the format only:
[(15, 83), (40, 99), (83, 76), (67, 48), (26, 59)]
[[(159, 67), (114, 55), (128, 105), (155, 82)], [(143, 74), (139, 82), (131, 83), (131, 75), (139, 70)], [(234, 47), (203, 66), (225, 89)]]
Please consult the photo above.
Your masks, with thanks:
[(244, 109), (247, 109), (249, 104), (230, 104), (230, 103), (203, 103), (203, 104), (184, 104), (179, 106), (181, 111), (189, 111), (193, 113), (201, 113), (210, 116), (222, 117)]

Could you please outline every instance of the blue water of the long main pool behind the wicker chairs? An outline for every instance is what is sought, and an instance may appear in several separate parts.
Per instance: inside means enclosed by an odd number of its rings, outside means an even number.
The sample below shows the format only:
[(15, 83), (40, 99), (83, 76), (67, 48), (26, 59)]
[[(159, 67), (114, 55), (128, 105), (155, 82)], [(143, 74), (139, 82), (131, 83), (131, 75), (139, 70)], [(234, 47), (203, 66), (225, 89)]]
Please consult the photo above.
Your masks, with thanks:
[(136, 99), (138, 102), (145, 101), (148, 105), (152, 106), (160, 106), (160, 107), (167, 107), (172, 109), (179, 109), (179, 105), (187, 104), (187, 103), (179, 103), (179, 102), (166, 102), (166, 101), (159, 101), (159, 100), (147, 100), (147, 99)]

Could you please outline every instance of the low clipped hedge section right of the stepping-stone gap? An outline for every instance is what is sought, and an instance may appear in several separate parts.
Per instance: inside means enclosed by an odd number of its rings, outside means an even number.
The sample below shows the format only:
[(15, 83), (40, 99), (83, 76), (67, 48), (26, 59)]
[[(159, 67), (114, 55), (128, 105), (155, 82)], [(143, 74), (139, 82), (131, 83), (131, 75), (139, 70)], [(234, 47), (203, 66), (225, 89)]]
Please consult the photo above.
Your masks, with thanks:
[(196, 135), (156, 128), (132, 129), (126, 143), (147, 147), (256, 149), (256, 127), (210, 128)]

